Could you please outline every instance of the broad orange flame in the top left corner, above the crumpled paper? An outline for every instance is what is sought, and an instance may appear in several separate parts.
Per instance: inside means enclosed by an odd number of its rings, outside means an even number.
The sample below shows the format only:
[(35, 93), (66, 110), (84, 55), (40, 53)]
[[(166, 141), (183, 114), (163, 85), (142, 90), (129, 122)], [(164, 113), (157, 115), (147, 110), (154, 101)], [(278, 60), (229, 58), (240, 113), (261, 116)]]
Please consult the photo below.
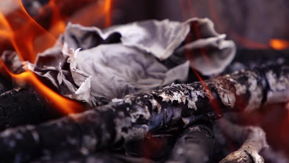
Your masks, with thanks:
[[(25, 11), (24, 6), (19, 0), (20, 10), (17, 10), (13, 15), (6, 18), (0, 13), (0, 21), (2, 28), (0, 29), (0, 37), (10, 40), (15, 51), (19, 54), (21, 60), (28, 60), (34, 62), (38, 52), (42, 52), (45, 49), (51, 47), (56, 39), (48, 33), (43, 27), (38, 25)], [(38, 43), (35, 51), (34, 40), (38, 35), (45, 34), (44, 43)]]

